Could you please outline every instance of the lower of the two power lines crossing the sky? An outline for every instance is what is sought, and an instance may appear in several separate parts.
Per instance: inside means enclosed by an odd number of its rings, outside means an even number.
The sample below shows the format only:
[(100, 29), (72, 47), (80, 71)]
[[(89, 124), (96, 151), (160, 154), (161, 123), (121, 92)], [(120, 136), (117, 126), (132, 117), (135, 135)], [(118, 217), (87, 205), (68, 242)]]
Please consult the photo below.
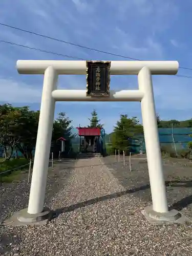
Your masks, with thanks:
[[(29, 46), (16, 44), (15, 42), (10, 42), (10, 41), (5, 41), (5, 40), (0, 40), (0, 42), (4, 42), (5, 44), (9, 44), (9, 45), (13, 45), (13, 46), (19, 46), (19, 47), (27, 48), (29, 50), (35, 50), (35, 51), (39, 51), (39, 52), (49, 53), (49, 54), (53, 54), (53, 55), (57, 55), (57, 56), (62, 56), (62, 57), (67, 57), (67, 58), (72, 58), (72, 59), (78, 59), (78, 60), (86, 60), (86, 59), (83, 59), (83, 58), (79, 58), (79, 57), (75, 57), (75, 56), (71, 56), (71, 55), (67, 55), (67, 54), (61, 54), (61, 53), (57, 53), (57, 52), (46, 51), (46, 50), (43, 50), (43, 49), (40, 49), (40, 48), (34, 48), (34, 47), (29, 47)], [(192, 76), (184, 76), (184, 75), (175, 75), (175, 76), (184, 77), (184, 78), (192, 78)]]

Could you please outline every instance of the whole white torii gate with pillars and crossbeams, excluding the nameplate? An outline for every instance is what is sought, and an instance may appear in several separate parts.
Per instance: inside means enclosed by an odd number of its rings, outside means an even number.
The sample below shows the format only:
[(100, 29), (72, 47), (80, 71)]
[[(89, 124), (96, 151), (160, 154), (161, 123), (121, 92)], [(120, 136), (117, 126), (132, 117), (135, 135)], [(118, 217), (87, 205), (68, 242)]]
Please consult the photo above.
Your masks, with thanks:
[(19, 74), (44, 75), (27, 214), (29, 216), (38, 216), (44, 211), (56, 101), (140, 101), (153, 201), (152, 211), (153, 213), (156, 212), (159, 216), (169, 214), (156, 120), (152, 75), (175, 75), (178, 72), (178, 68), (178, 61), (114, 60), (111, 61), (111, 75), (138, 75), (139, 89), (119, 92), (110, 91), (109, 97), (91, 97), (86, 96), (86, 90), (57, 90), (58, 75), (86, 75), (86, 61), (18, 60), (17, 70)]

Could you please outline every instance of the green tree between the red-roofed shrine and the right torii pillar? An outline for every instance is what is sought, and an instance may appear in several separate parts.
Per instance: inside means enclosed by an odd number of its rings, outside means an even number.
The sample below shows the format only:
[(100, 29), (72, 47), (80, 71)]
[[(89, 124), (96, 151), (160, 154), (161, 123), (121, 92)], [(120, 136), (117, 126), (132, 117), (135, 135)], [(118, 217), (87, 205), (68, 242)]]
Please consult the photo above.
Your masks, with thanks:
[(131, 140), (143, 132), (142, 125), (137, 117), (128, 118), (127, 115), (120, 115), (112, 134), (112, 147), (116, 150), (129, 151)]

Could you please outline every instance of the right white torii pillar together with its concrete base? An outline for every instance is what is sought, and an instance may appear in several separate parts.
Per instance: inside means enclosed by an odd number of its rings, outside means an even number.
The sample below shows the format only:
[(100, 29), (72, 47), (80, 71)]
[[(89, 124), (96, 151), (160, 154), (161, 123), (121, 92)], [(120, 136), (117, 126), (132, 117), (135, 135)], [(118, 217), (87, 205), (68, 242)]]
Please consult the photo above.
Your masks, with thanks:
[(143, 67), (139, 71), (138, 84), (139, 90), (143, 92), (143, 97), (141, 99), (141, 114), (153, 202), (152, 206), (147, 206), (141, 212), (150, 223), (185, 223), (189, 220), (180, 212), (175, 209), (168, 211), (152, 75), (150, 69), (147, 67)]

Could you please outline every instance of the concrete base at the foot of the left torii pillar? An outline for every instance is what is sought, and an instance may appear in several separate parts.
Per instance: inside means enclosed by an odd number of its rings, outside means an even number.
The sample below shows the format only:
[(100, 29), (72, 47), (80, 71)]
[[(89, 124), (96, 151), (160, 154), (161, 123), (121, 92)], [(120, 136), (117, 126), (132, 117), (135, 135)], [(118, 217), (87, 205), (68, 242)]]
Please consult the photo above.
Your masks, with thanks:
[(40, 214), (28, 214), (27, 208), (16, 211), (4, 221), (5, 226), (45, 225), (51, 220), (51, 211), (45, 207)]

